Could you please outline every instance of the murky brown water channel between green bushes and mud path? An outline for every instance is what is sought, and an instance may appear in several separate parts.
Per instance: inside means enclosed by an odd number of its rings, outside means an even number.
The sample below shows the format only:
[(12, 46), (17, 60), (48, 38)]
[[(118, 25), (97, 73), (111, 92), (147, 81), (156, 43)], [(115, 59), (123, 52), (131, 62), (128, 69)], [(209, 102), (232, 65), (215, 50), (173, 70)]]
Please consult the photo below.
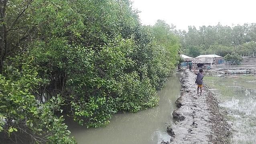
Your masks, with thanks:
[(166, 128), (173, 123), (172, 112), (180, 95), (181, 77), (181, 73), (170, 77), (166, 87), (158, 91), (160, 101), (157, 107), (136, 113), (115, 114), (104, 128), (87, 129), (66, 120), (71, 136), (76, 138), (78, 144), (159, 144), (162, 140), (170, 141)]

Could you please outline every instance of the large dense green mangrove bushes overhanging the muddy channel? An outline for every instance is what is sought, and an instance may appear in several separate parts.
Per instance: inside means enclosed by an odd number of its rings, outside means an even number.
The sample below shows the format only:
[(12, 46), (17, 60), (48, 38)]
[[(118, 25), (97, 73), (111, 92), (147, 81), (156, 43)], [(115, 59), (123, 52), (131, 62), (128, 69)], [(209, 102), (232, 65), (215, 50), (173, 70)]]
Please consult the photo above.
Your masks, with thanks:
[(10, 139), (74, 143), (65, 114), (99, 127), (154, 107), (179, 59), (173, 28), (142, 26), (129, 0), (2, 0), (0, 9), (0, 132)]

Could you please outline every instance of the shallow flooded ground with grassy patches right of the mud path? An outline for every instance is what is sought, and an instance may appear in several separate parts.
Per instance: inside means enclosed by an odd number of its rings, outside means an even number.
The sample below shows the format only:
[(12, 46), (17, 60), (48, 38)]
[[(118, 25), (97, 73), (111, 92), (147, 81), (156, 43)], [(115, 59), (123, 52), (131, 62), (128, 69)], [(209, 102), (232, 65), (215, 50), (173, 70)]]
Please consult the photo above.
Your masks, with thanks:
[(233, 129), (232, 144), (256, 144), (256, 77), (232, 75), (205, 77), (220, 99)]

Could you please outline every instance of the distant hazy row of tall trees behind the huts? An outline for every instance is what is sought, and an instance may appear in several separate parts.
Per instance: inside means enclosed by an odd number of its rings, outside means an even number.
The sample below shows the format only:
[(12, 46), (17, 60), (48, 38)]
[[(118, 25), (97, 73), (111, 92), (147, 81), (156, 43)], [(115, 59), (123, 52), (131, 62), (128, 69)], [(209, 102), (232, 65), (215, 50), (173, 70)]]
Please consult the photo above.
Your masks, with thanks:
[(182, 48), (192, 57), (205, 54), (225, 56), (238, 53), (241, 56), (256, 56), (256, 24), (237, 26), (189, 26), (188, 31), (177, 31)]

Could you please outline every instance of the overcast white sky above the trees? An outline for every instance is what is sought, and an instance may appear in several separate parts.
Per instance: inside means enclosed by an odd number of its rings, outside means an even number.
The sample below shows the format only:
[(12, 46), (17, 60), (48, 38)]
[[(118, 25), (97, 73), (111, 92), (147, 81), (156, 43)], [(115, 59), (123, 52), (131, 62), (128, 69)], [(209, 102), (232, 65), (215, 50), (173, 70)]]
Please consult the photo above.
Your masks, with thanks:
[(244, 24), (256, 22), (256, 0), (132, 0), (142, 24), (165, 20), (177, 29), (188, 26)]

